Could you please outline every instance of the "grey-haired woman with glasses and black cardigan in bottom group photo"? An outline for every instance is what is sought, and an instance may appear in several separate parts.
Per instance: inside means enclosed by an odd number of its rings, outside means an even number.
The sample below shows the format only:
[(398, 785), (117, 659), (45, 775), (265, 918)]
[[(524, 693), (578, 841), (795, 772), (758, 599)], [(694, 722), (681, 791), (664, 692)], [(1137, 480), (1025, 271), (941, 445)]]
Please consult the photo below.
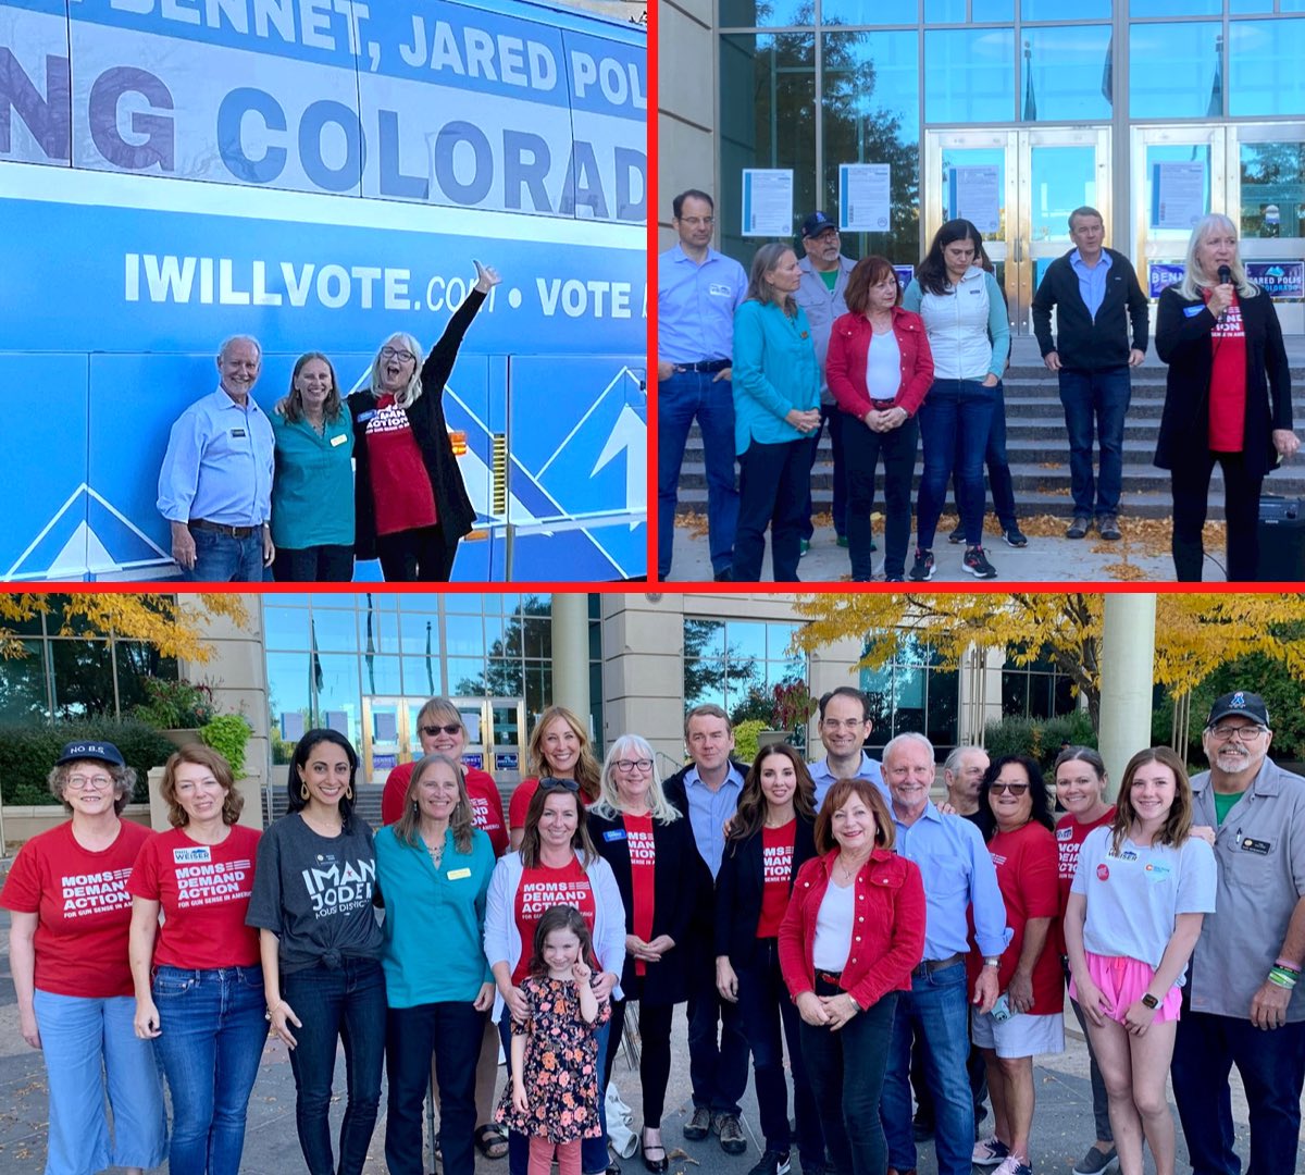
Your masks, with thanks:
[(694, 896), (710, 883), (693, 845), (689, 821), (662, 792), (656, 760), (646, 739), (621, 735), (603, 761), (602, 796), (589, 809), (589, 826), (612, 867), (625, 906), (625, 969), (621, 999), (612, 1001), (603, 1089), (621, 1047), (629, 1000), (639, 1001), (639, 1081), (643, 1089), (643, 1166), (666, 1171), (662, 1111), (671, 1077), (671, 1016), (689, 997), (685, 941)]

